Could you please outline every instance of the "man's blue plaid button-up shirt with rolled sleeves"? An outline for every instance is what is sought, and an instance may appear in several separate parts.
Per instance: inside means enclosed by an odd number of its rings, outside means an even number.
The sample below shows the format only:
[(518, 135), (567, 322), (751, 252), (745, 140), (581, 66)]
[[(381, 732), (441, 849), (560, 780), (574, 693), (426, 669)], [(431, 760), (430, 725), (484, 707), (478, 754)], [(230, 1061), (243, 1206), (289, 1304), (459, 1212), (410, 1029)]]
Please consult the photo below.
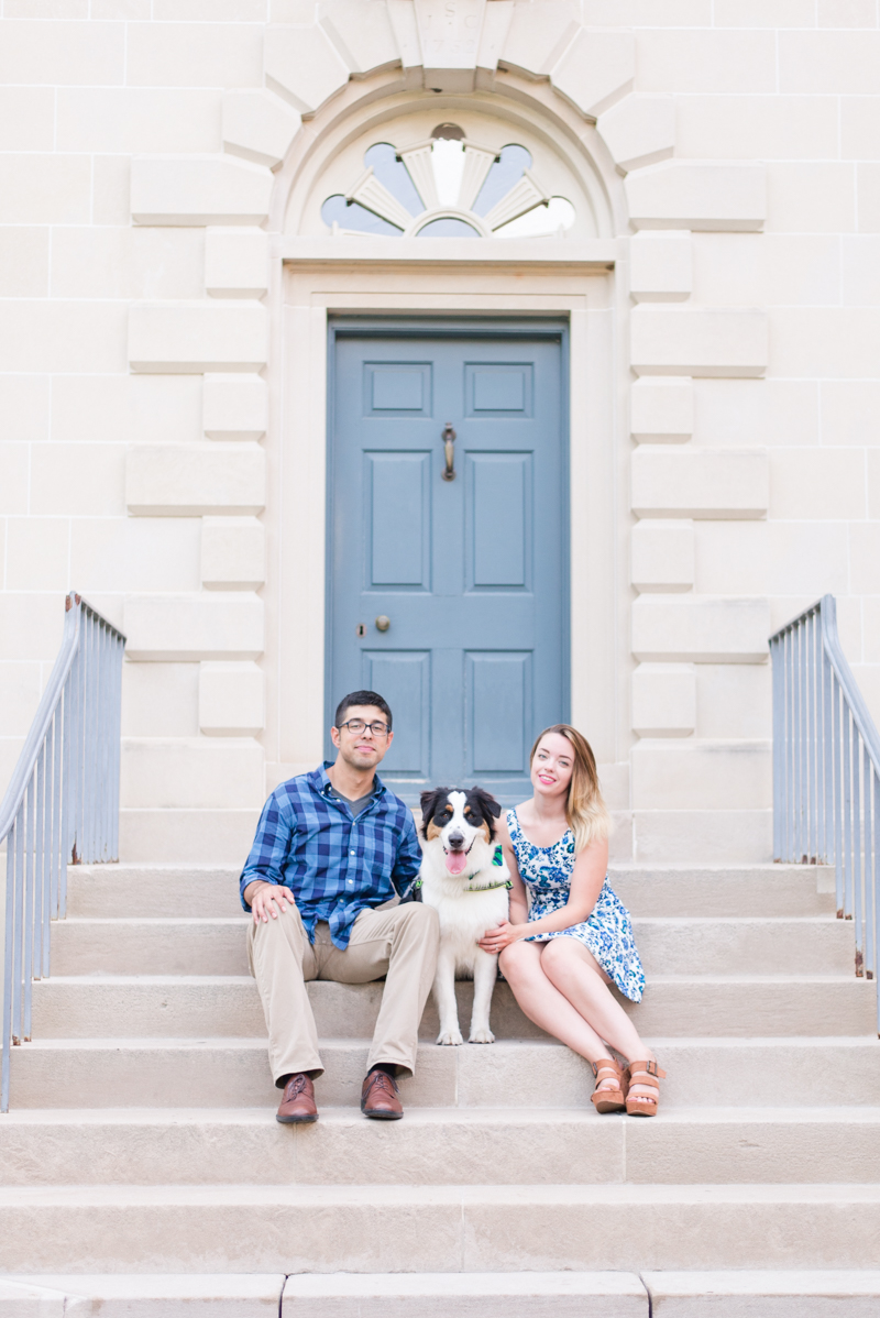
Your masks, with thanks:
[(296, 898), (315, 941), (315, 925), (327, 920), (335, 946), (348, 948), (361, 911), (382, 905), (412, 884), (422, 851), (408, 808), (378, 778), (373, 799), (357, 816), (331, 796), (329, 764), (299, 774), (277, 787), (263, 805), (257, 836), (238, 880), (281, 883)]

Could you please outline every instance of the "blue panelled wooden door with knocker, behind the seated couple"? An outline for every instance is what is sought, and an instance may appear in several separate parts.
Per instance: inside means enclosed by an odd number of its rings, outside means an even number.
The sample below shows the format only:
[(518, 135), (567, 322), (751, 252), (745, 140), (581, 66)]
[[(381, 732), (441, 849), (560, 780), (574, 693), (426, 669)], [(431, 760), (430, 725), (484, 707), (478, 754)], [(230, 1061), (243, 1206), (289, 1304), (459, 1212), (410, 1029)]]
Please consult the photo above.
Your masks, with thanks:
[(522, 799), (535, 735), (566, 716), (561, 366), (559, 331), (336, 332), (328, 709), (386, 697), (381, 772), (404, 799)]

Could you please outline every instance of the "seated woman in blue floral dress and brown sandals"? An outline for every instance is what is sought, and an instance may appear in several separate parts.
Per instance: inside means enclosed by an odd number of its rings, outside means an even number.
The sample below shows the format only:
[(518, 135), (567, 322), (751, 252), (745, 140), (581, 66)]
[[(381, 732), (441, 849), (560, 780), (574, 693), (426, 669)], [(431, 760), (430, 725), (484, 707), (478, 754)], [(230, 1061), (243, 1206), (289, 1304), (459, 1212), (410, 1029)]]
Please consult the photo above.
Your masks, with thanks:
[[(535, 795), (507, 812), (506, 828), (499, 821), (510, 919), (480, 946), (501, 953), (528, 1019), (591, 1064), (597, 1111), (655, 1116), (665, 1072), (607, 987), (640, 1002), (644, 971), (630, 913), (606, 879), (611, 821), (595, 758), (577, 729), (556, 724), (530, 763)], [(607, 1044), (630, 1058), (626, 1072)]]

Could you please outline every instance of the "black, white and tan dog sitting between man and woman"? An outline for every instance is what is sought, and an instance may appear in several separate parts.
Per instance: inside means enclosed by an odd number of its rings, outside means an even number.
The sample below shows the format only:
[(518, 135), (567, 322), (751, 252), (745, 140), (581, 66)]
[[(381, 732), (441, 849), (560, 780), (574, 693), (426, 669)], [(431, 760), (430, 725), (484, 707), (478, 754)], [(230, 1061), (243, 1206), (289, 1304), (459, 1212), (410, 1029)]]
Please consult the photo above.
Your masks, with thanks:
[(481, 787), (437, 787), (422, 793), (422, 900), (440, 916), (440, 953), (433, 999), (439, 1044), (461, 1044), (456, 971), (472, 977), (472, 1044), (494, 1044), (489, 1028), (498, 957), (478, 946), (486, 929), (507, 919), (510, 870), (494, 846), (501, 805)]

